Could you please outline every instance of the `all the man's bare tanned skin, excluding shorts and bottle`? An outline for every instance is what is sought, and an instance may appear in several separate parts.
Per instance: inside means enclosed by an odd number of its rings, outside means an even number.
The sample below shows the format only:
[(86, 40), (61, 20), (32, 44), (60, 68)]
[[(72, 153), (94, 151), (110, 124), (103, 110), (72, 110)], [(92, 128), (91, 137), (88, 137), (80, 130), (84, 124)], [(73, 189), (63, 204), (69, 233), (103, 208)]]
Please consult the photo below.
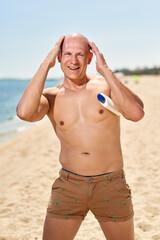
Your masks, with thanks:
[[(96, 55), (96, 68), (101, 76), (86, 75), (93, 55), (89, 48)], [(56, 57), (64, 72), (64, 81), (43, 90)], [(81, 175), (115, 171), (123, 168), (120, 118), (102, 107), (97, 100), (100, 92), (112, 98), (126, 119), (139, 121), (144, 116), (140, 98), (116, 78), (94, 43), (80, 34), (62, 36), (26, 88), (17, 106), (17, 115), (30, 122), (48, 115), (61, 143), (59, 160), (63, 168)], [(81, 222), (46, 217), (43, 240), (71, 240)], [(108, 240), (134, 239), (133, 219), (100, 222), (100, 226)]]

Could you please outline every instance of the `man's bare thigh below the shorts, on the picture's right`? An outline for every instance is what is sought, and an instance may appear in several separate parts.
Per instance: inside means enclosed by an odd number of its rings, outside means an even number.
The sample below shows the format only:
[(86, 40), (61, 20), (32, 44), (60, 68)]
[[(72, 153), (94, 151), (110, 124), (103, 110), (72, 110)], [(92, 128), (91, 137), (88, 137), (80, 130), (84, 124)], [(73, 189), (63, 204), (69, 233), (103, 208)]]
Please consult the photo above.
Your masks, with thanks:
[(134, 240), (133, 218), (123, 222), (100, 222), (107, 240)]

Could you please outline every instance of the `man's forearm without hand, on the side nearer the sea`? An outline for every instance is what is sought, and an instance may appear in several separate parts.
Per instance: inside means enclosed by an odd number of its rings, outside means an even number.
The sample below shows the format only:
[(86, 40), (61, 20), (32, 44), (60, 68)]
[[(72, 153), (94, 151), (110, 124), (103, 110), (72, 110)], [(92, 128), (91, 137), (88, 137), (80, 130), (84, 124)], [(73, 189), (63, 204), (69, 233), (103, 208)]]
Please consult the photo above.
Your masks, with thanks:
[(38, 111), (48, 71), (48, 62), (44, 60), (18, 103), (17, 115), (31, 118)]

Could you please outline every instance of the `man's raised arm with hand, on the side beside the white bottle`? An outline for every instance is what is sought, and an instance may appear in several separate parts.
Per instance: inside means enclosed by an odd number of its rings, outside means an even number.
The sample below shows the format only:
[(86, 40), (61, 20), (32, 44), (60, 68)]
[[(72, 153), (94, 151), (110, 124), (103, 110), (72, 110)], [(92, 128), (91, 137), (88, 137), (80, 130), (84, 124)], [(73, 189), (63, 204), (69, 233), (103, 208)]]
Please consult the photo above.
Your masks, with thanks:
[(102, 53), (99, 51), (95, 43), (89, 42), (91, 50), (96, 55), (97, 71), (106, 79), (111, 89), (111, 99), (115, 103), (117, 109), (128, 120), (139, 121), (144, 116), (143, 102), (141, 99), (127, 88), (115, 76), (108, 67)]

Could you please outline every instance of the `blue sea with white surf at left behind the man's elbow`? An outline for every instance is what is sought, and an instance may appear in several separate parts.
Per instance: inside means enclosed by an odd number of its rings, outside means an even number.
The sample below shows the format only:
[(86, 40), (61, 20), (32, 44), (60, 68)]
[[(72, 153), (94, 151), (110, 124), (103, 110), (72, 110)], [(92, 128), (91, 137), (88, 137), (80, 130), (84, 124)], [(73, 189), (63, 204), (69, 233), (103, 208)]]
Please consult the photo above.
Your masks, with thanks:
[[(0, 79), (0, 144), (37, 124), (37, 122), (22, 121), (16, 115), (17, 104), (29, 81)], [(44, 88), (54, 87), (61, 81), (61, 79), (47, 79)]]

